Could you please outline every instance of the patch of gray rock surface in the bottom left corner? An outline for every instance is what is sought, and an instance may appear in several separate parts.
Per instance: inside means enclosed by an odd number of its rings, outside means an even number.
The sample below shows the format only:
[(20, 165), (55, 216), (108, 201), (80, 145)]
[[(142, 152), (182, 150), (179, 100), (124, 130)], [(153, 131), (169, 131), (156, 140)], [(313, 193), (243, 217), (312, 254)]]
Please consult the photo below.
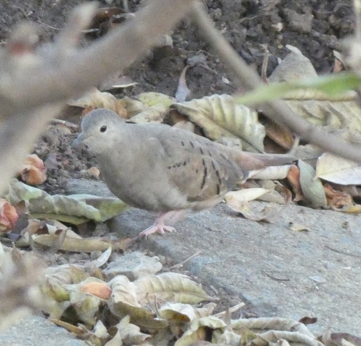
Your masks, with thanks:
[(40, 316), (30, 316), (18, 321), (0, 333), (1, 346), (87, 346), (64, 328)]

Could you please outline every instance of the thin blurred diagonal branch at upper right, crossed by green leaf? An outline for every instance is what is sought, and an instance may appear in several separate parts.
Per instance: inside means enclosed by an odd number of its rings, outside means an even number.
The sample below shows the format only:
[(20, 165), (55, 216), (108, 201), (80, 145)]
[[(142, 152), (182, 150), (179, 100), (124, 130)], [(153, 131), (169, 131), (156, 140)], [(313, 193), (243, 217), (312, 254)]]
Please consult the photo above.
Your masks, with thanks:
[[(260, 77), (245, 64), (230, 44), (218, 33), (212, 20), (205, 13), (203, 5), (194, 2), (192, 9), (194, 21), (198, 25), (201, 35), (221, 58), (229, 72), (236, 77), (238, 84), (245, 90), (253, 90), (263, 86)], [(284, 102), (267, 102), (262, 105), (262, 109), (272, 120), (287, 126), (293, 133), (307, 142), (313, 143), (324, 151), (332, 152), (361, 164), (361, 146), (352, 145), (343, 138), (310, 124), (293, 113)]]

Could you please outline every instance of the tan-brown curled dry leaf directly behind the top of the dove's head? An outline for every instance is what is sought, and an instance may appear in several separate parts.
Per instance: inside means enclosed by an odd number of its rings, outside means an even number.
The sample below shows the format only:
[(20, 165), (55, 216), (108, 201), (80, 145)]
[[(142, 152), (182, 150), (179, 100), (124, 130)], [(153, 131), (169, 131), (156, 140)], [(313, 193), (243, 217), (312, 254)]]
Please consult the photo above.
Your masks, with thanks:
[(82, 108), (90, 106), (95, 109), (107, 108), (116, 112), (122, 118), (127, 117), (126, 109), (119, 103), (114, 95), (109, 92), (100, 92), (97, 88), (93, 88), (88, 94), (82, 96), (80, 99), (69, 101), (68, 105)]

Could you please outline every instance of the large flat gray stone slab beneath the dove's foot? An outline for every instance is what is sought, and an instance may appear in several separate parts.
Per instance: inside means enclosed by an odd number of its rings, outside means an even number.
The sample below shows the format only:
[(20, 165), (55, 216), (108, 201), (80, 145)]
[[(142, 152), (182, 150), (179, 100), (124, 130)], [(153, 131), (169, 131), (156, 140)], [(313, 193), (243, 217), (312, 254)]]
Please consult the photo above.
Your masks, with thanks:
[[(269, 205), (251, 203), (258, 210)], [(309, 329), (316, 335), (330, 327), (361, 336), (360, 217), (273, 207), (275, 222), (268, 224), (243, 219), (219, 204), (178, 222), (177, 233), (151, 235), (143, 245), (179, 262), (201, 250), (184, 266), (208, 284), (240, 295), (260, 316), (312, 316), (318, 322)], [(135, 236), (154, 217), (131, 208), (109, 226), (119, 237)], [(292, 231), (289, 222), (310, 231)]]

